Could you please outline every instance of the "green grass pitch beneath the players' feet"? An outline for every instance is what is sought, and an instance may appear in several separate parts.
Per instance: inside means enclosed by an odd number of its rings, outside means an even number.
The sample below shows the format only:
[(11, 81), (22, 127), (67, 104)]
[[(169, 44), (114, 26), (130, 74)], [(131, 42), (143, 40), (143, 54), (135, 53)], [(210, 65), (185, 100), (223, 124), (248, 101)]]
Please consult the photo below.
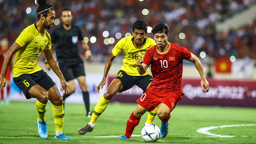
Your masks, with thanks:
[[(94, 107), (95, 105), (92, 105)], [(136, 104), (109, 103), (107, 109), (98, 119), (92, 132), (78, 135), (77, 130), (89, 122), (85, 116), (83, 104), (66, 104), (63, 133), (74, 140), (60, 140), (54, 138), (54, 119), (52, 104), (47, 104), (46, 120), (48, 138), (41, 139), (37, 130), (37, 113), (35, 102), (11, 102), (0, 105), (0, 143), (146, 143), (141, 137), (118, 140), (125, 133), (126, 122)], [(141, 118), (133, 134), (140, 135), (146, 121), (147, 114)], [(153, 121), (161, 126), (158, 117)], [(227, 107), (196, 107), (178, 105), (171, 112), (169, 133), (166, 138), (160, 138), (156, 143), (256, 143), (256, 126), (240, 126), (217, 128), (209, 132), (217, 135), (234, 135), (235, 137), (210, 137), (198, 133), (202, 127), (238, 124), (256, 124), (256, 109), (227, 108)], [(90, 136), (90, 137), (89, 137)]]

